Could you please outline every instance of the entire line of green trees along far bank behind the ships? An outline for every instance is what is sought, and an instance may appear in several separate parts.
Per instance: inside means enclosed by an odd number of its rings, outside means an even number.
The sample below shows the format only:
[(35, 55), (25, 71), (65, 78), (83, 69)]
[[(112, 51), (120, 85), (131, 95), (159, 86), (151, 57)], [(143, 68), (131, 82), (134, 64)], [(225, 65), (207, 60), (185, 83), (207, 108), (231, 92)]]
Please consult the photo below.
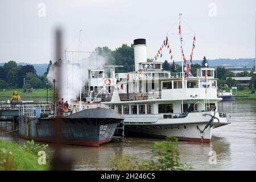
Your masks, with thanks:
[[(128, 46), (127, 44), (122, 44), (121, 47), (111, 50), (108, 47), (97, 47), (96, 51), (98, 55), (105, 57), (107, 59), (106, 65), (122, 65), (123, 67), (115, 68), (115, 72), (131, 72), (134, 70), (134, 49), (133, 44)], [(147, 61), (150, 61), (148, 59)], [(196, 69), (205, 67), (205, 63), (208, 63), (207, 58), (203, 57), (201, 65), (191, 64), (191, 73), (196, 76)], [(49, 71), (49, 67), (52, 65), (52, 61), (49, 61), (46, 73), (42, 76), (36, 75), (36, 71), (32, 65), (17, 65), (15, 61), (9, 61), (0, 67), (0, 89), (4, 88), (46, 88), (46, 77)], [(177, 70), (175, 69), (175, 65)], [(171, 72), (181, 72), (181, 66), (179, 64), (168, 63), (164, 61), (163, 69)], [(218, 81), (219, 88), (222, 86), (236, 86), (237, 82), (232, 80), (236, 76), (251, 76), (250, 87), (256, 88), (256, 77), (253, 74), (253, 70), (250, 73), (242, 72), (234, 74), (229, 72), (225, 68), (217, 68), (216, 75), (220, 80)], [(23, 78), (25, 78), (25, 85), (23, 85)]]

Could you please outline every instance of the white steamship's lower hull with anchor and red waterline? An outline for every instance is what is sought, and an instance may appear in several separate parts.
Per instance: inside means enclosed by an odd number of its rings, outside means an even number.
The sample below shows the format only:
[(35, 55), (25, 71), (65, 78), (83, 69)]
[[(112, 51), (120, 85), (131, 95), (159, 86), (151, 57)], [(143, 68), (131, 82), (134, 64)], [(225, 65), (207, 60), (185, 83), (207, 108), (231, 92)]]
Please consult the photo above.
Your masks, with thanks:
[(184, 118), (154, 118), (151, 116), (150, 119), (139, 118), (139, 121), (137, 121), (138, 118), (125, 118), (125, 133), (154, 138), (166, 138), (171, 135), (183, 141), (209, 143), (213, 128), (228, 125), (229, 122), (217, 116), (220, 122), (214, 119), (213, 127), (208, 126), (204, 130), (210, 120), (209, 115), (204, 116), (204, 114), (211, 114), (211, 112), (189, 113)]

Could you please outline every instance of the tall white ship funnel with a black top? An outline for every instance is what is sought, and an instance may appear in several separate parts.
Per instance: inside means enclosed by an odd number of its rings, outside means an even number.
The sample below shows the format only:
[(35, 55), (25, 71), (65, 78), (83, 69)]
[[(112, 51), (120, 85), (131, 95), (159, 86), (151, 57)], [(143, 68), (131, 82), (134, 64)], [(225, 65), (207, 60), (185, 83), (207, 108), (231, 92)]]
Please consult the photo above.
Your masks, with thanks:
[(146, 39), (135, 39), (134, 41), (134, 65), (135, 71), (139, 68), (139, 63), (147, 62)]

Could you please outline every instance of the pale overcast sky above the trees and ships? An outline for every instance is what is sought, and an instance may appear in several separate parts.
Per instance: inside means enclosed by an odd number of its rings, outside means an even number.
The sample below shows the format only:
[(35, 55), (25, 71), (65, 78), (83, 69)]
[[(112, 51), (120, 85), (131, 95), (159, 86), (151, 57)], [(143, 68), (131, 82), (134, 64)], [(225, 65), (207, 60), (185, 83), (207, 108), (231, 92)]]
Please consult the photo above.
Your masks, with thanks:
[[(40, 3), (43, 3), (40, 4)], [(44, 9), (45, 5), (45, 9)], [(0, 63), (15, 60), (48, 63), (54, 60), (53, 30), (64, 30), (63, 52), (82, 28), (89, 40), (84, 50), (115, 49), (136, 38), (147, 39), (152, 58), (169, 33), (178, 32), (179, 13), (184, 52), (189, 57), (196, 32), (194, 59), (255, 57), (256, 1), (139, 1), (139, 0), (1, 0)], [(188, 24), (187, 24), (188, 23)], [(174, 59), (180, 59), (178, 35), (169, 34)], [(76, 41), (70, 48), (75, 49)], [(163, 52), (168, 59), (168, 52)]]

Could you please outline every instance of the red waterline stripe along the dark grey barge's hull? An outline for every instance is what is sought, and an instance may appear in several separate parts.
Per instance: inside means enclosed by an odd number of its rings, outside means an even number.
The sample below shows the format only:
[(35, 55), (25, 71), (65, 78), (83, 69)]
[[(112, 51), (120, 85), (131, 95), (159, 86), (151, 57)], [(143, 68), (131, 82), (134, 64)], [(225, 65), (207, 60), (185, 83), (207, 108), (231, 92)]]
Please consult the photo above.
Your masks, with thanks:
[[(27, 137), (26, 135), (20, 135), (22, 138), (26, 139), (33, 139), (34, 141), (37, 142), (47, 142), (47, 143), (55, 143), (55, 139), (52, 138), (34, 138), (34, 137)], [(111, 139), (109, 140), (99, 140), (99, 141), (92, 141), (92, 140), (61, 140), (60, 143), (62, 144), (77, 144), (81, 146), (100, 146), (100, 144), (108, 143), (110, 142)]]

